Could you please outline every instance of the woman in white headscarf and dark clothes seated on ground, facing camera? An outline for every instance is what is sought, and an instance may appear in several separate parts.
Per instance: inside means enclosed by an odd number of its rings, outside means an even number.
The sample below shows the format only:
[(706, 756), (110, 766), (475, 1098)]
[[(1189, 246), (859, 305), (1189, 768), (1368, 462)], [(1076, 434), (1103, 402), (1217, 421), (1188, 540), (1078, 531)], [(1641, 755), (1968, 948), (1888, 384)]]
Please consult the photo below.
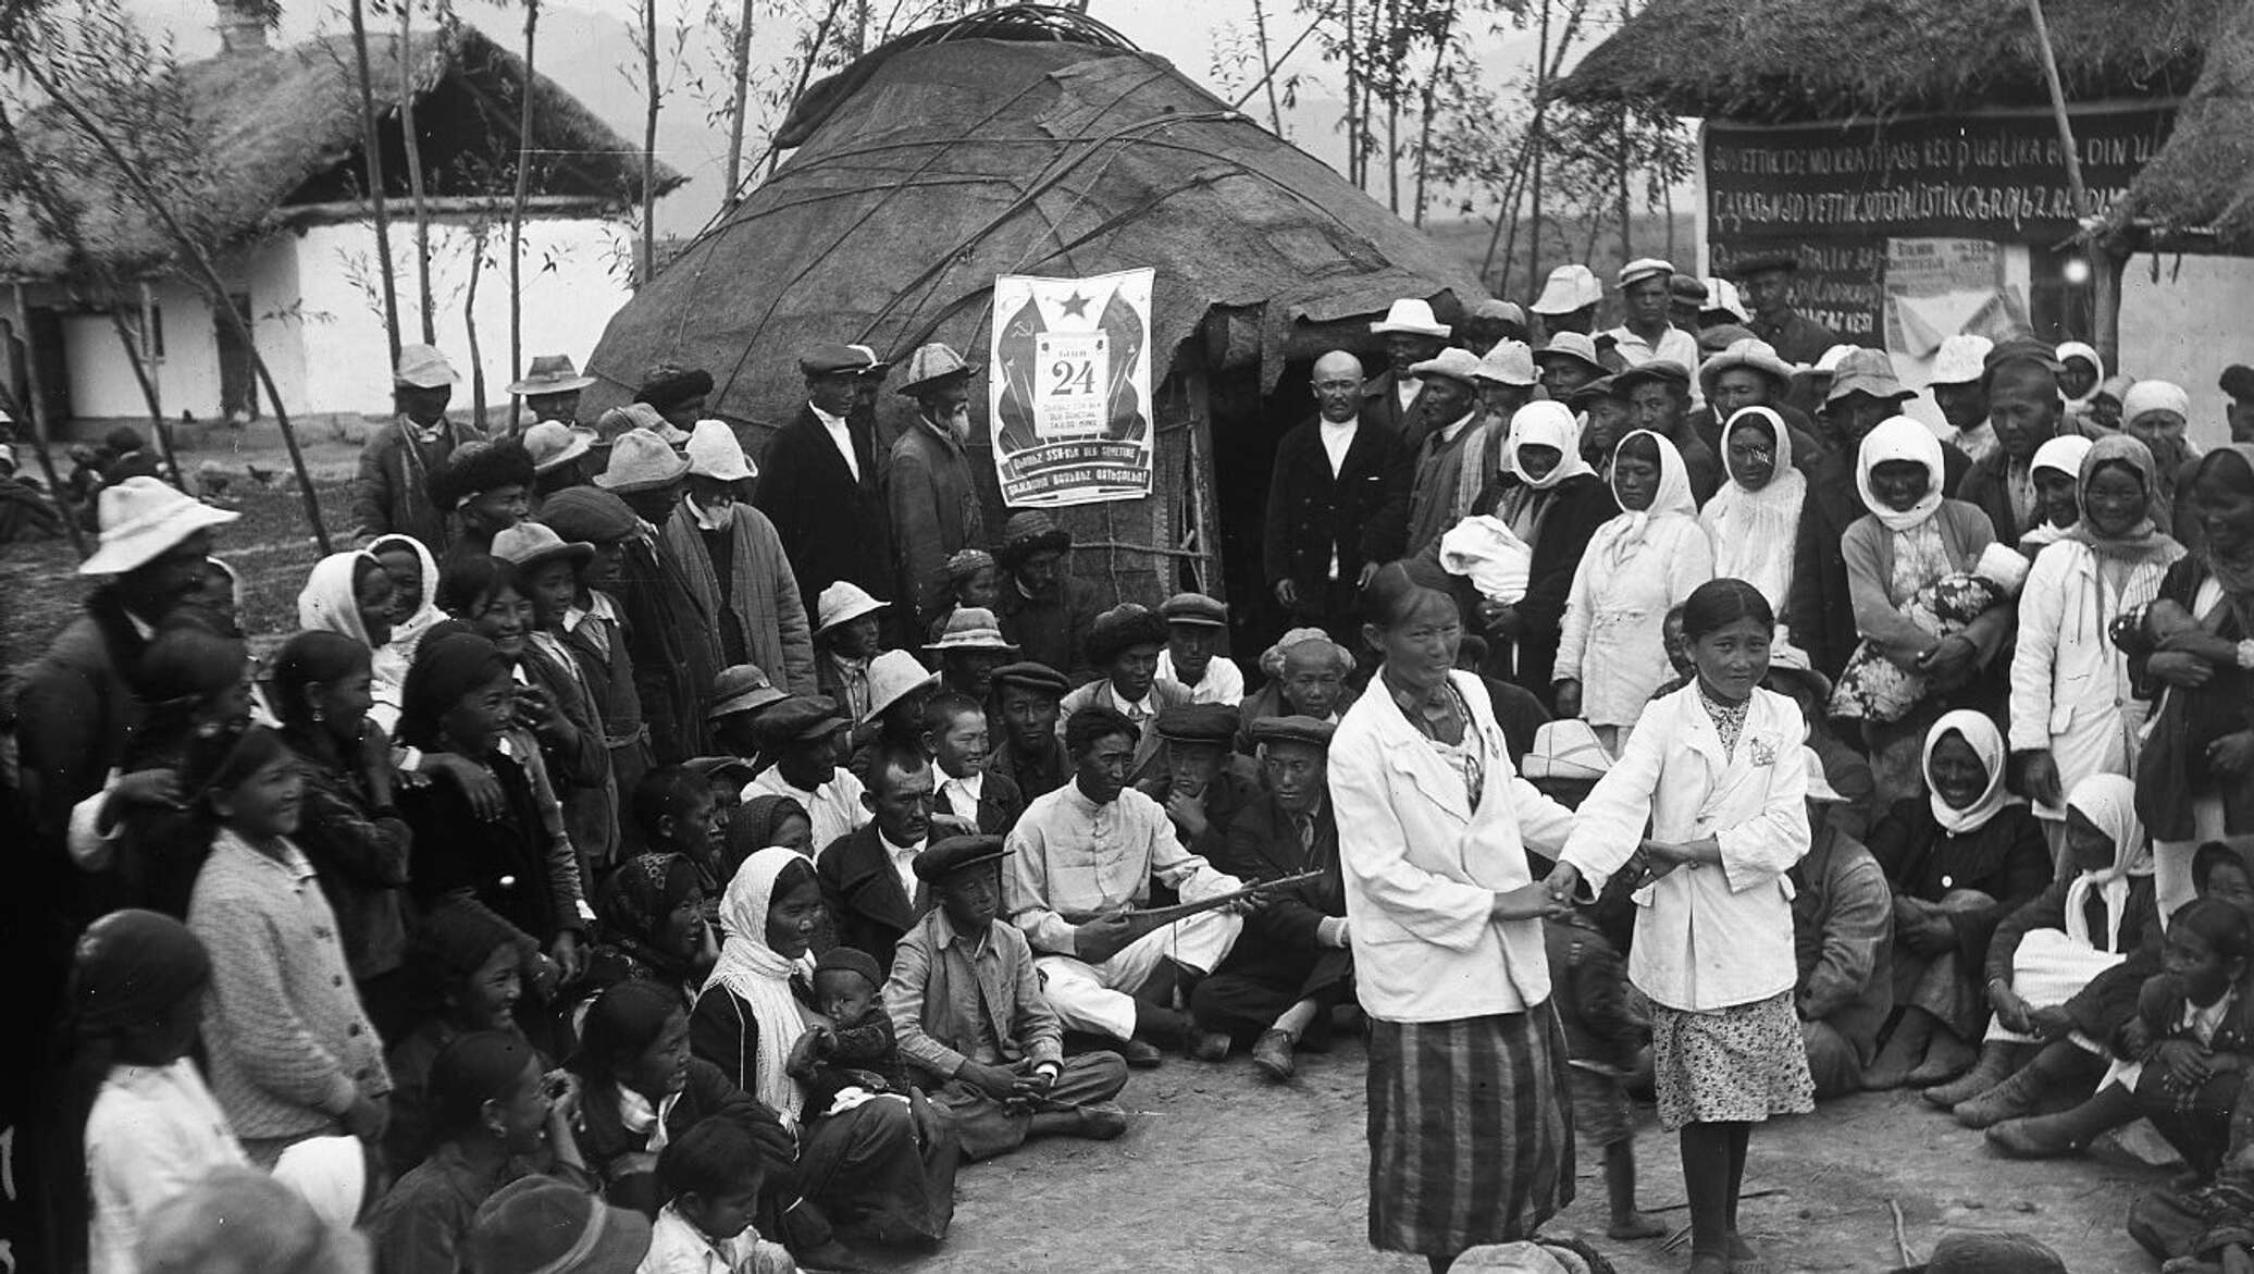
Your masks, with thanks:
[(1972, 1067), (1988, 1026), (1988, 940), (2051, 882), (2051, 850), (2026, 803), (2004, 789), (2004, 762), (1995, 722), (1947, 713), (1925, 733), (1932, 791), (1896, 800), (1871, 828), (1871, 857), (1893, 886), (1902, 1015), (1862, 1076), (1866, 1089), (1945, 1085)]

